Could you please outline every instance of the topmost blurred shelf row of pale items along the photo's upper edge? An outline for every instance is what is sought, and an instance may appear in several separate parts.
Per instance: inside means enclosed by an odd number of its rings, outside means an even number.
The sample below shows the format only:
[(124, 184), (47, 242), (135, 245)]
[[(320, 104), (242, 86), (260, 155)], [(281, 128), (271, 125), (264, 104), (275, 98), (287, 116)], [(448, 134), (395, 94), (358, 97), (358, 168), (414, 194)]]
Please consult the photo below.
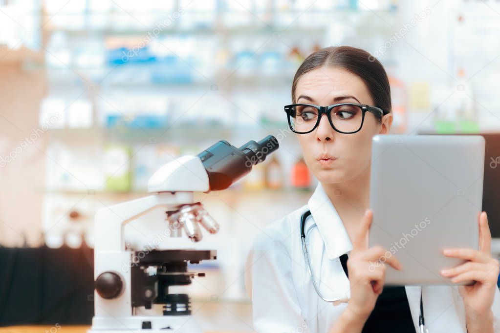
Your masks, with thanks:
[[(112, 1), (111, 1), (112, 2)], [(365, 1), (366, 2), (366, 1)], [(142, 4), (142, 3), (141, 3)], [(397, 11), (397, 1), (378, 0), (360, 2), (357, 0), (324, 0), (314, 1), (171, 1), (162, 5), (142, 4), (141, 7), (130, 4), (115, 3), (95, 5), (92, 2), (81, 5), (57, 8), (53, 6), (46, 10), (50, 24), (46, 29), (73, 30), (130, 30), (135, 27), (139, 32), (144, 29), (174, 30), (206, 29), (213, 26), (231, 29), (238, 26), (262, 25), (263, 22), (273, 27), (287, 27), (299, 16), (316, 15), (317, 19), (325, 21), (338, 14), (370, 12), (377, 15), (392, 14)], [(56, 10), (57, 9), (57, 10)], [(60, 10), (62, 9), (62, 10)], [(56, 10), (52, 12), (51, 10)], [(55, 15), (57, 13), (57, 15)], [(318, 15), (327, 14), (326, 15)], [(335, 19), (338, 19), (335, 17)], [(144, 33), (147, 33), (145, 31)]]

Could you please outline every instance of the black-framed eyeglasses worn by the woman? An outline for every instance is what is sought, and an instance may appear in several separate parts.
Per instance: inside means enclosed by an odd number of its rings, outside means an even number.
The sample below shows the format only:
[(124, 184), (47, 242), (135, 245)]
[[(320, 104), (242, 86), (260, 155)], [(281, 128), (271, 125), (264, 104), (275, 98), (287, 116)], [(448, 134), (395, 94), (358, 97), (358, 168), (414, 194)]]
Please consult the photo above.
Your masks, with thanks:
[(371, 112), (380, 118), (388, 113), (376, 106), (357, 103), (340, 103), (330, 106), (289, 104), (284, 106), (284, 111), (288, 116), (290, 129), (299, 134), (312, 132), (319, 124), (323, 113), (326, 114), (331, 127), (344, 134), (359, 131), (363, 126), (366, 112)]

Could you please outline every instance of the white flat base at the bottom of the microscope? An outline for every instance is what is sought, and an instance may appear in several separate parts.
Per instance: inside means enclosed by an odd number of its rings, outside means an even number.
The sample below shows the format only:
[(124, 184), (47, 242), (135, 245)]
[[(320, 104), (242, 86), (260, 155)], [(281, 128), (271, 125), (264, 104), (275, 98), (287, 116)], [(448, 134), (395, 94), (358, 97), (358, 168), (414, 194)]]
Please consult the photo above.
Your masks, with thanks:
[[(150, 323), (150, 329), (143, 323)], [(87, 333), (202, 333), (192, 316), (94, 317)]]

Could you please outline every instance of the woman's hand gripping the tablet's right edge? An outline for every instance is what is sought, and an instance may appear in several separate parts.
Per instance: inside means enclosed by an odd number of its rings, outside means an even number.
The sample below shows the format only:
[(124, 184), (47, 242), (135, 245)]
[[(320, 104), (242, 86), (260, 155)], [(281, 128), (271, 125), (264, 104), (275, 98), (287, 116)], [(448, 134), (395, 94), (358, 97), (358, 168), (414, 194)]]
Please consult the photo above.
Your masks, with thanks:
[[(451, 278), (451, 282), (475, 281), (472, 286), (458, 286), (463, 297), (467, 318), (485, 321), (491, 317), (491, 305), (498, 279), (498, 260), (491, 257), (491, 233), (489, 232), (486, 212), (479, 221), (479, 251), (472, 249), (444, 249), (443, 254), (468, 260), (457, 267), (442, 270), (441, 275)], [(467, 327), (469, 327), (467, 323)], [(491, 323), (489, 323), (491, 324)]]

